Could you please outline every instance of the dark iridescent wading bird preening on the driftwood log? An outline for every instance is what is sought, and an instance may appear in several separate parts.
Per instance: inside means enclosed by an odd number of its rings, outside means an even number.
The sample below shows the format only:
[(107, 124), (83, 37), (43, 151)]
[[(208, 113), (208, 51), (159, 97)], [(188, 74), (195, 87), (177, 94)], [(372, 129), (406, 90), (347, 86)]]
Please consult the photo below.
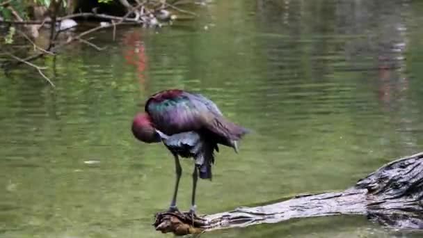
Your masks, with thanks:
[(145, 143), (163, 142), (175, 158), (176, 182), (170, 212), (178, 212), (177, 190), (182, 168), (179, 157), (195, 159), (190, 214), (195, 215), (195, 189), (198, 177), (212, 179), (214, 150), (218, 144), (234, 148), (248, 132), (226, 120), (216, 104), (206, 97), (184, 90), (163, 90), (145, 103), (145, 113), (132, 122), (132, 133)]

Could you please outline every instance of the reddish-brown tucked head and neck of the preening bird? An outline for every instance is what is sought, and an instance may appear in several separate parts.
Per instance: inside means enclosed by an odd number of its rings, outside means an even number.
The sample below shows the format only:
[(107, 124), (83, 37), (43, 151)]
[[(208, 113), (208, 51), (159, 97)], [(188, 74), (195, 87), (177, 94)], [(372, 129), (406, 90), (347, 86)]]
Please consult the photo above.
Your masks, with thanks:
[(150, 116), (138, 113), (132, 122), (132, 133), (135, 138), (145, 143), (161, 142), (160, 135), (156, 132)]

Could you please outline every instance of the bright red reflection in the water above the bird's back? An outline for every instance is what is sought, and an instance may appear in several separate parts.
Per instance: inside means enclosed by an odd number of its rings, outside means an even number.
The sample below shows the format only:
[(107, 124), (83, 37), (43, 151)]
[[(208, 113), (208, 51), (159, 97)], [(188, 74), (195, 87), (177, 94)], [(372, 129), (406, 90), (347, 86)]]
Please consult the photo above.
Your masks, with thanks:
[(136, 75), (141, 92), (147, 89), (144, 70), (147, 67), (147, 56), (145, 55), (145, 45), (142, 41), (141, 33), (130, 31), (122, 38), (123, 54), (127, 64), (136, 67)]

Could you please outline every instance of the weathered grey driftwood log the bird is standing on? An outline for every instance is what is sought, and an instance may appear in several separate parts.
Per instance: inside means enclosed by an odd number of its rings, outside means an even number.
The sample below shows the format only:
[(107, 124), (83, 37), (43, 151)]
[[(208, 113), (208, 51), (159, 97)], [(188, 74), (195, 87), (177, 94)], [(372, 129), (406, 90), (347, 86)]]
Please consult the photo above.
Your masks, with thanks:
[(354, 214), (394, 228), (423, 229), (423, 152), (392, 161), (359, 180), (350, 189), (296, 196), (262, 207), (192, 218), (163, 212), (154, 227), (187, 235), (209, 230), (277, 223), (295, 218)]

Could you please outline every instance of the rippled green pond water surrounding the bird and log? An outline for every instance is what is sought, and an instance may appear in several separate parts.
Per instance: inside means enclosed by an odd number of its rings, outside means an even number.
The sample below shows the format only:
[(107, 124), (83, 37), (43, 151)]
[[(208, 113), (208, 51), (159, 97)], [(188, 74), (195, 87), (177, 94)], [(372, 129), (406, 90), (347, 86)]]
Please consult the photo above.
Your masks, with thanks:
[[(151, 223), (170, 203), (173, 159), (130, 131), (165, 88), (207, 95), (253, 130), (199, 182), (200, 214), (345, 189), (423, 150), (422, 2), (221, 0), (198, 13), (35, 62), (56, 88), (24, 66), (0, 75), (0, 237), (171, 237)], [(192, 162), (182, 166), (188, 209)], [(420, 235), (341, 216), (202, 237)]]

